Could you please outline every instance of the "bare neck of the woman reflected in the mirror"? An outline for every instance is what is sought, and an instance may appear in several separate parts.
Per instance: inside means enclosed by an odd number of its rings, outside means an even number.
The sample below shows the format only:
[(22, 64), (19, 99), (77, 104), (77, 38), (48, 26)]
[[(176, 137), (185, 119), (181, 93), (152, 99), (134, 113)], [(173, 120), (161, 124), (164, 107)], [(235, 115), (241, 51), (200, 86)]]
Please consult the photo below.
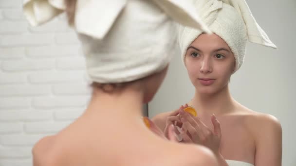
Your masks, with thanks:
[(200, 94), (196, 90), (189, 104), (195, 107), (198, 113), (202, 115), (215, 114), (219, 116), (233, 112), (236, 103), (230, 95), (228, 85), (226, 85), (221, 91), (215, 94)]

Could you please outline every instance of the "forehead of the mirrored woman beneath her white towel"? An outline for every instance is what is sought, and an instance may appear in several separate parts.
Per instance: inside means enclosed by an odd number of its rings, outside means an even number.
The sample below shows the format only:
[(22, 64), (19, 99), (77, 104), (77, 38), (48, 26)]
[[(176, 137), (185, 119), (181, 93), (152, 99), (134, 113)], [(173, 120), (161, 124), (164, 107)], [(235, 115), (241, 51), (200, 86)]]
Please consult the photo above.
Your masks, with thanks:
[(219, 49), (225, 48), (230, 50), (227, 43), (217, 34), (206, 34), (203, 33), (199, 35), (191, 44), (190, 46), (197, 47), (200, 50), (203, 49)]

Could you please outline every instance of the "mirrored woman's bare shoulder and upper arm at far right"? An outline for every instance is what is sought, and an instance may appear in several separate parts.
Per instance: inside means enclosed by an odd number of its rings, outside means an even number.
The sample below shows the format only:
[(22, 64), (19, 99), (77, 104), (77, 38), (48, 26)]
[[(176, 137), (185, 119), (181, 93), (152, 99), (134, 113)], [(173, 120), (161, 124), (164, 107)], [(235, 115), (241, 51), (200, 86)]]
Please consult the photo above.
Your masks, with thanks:
[(280, 166), (282, 129), (279, 120), (258, 112), (250, 112), (246, 117), (246, 125), (255, 141), (256, 166)]

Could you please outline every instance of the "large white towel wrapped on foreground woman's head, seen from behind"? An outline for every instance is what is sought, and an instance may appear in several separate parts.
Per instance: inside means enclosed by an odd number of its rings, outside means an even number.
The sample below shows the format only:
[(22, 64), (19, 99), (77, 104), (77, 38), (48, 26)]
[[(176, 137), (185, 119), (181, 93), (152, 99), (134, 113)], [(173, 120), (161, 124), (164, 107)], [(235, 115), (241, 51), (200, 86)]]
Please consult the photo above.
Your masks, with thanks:
[[(32, 25), (63, 13), (65, 0), (25, 0)], [(174, 54), (175, 21), (209, 32), (185, 0), (77, 0), (74, 29), (93, 82), (123, 83), (163, 70)]]

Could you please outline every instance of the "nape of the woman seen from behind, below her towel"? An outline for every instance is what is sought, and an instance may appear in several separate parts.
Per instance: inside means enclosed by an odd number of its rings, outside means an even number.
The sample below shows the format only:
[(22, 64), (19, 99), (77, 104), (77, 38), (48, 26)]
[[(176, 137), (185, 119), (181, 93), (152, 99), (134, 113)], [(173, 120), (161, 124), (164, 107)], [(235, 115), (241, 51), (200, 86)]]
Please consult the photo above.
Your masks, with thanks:
[(142, 91), (130, 87), (111, 93), (94, 88), (92, 99), (83, 116), (87, 116), (90, 120), (100, 121), (99, 123), (103, 124), (141, 120), (143, 98), (144, 93)]

